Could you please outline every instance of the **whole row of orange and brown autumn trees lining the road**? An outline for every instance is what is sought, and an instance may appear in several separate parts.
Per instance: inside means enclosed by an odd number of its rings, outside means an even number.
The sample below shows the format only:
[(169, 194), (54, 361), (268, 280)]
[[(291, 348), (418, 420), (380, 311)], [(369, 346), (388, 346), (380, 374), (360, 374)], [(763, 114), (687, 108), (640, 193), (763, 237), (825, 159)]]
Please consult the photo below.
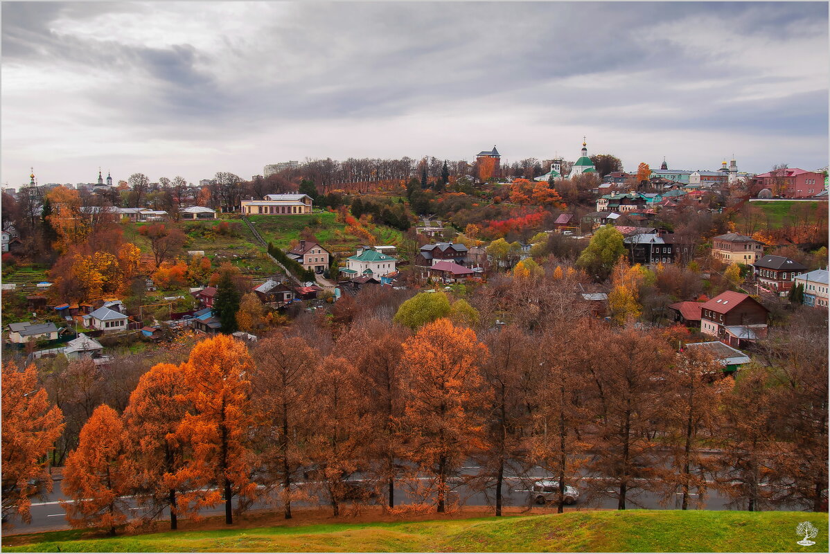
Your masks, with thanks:
[[(320, 498), (336, 515), (360, 474), (393, 512), (396, 488), (442, 512), (463, 482), (500, 513), (511, 477), (540, 465), (559, 480), (559, 509), (564, 484), (580, 482), (620, 509), (643, 491), (692, 508), (715, 488), (739, 508), (819, 509), (828, 389), (827, 344), (817, 339), (827, 328), (802, 323), (799, 331), (815, 330), (774, 334), (768, 367), (736, 381), (696, 349), (674, 352), (669, 335), (579, 318), (478, 335), (447, 318), (409, 322), (412, 331), (361, 318), (329, 338), (278, 333), (251, 352), (219, 336), (187, 362), (154, 366), (127, 406), (92, 411), (66, 460), (63, 488), (75, 500), (66, 508), (73, 525), (112, 531), (129, 519), (131, 494), (152, 507), (149, 518), (171, 508), (173, 526), (217, 503), (230, 523), (233, 498), (240, 509), (270, 499), (286, 518), (296, 500)], [(7, 453), (19, 458), (23, 447), (7, 441), (44, 420), (7, 414), (37, 385), (15, 386), (7, 375), (16, 367), (3, 372), (6, 498), (7, 479), (22, 479), (7, 468), (32, 474), (51, 445), (24, 445), (39, 450), (22, 456), (28, 465), (9, 464)], [(53, 438), (61, 421), (47, 408), (37, 406), (51, 413), (38, 425)], [(463, 476), (470, 459), (481, 469)], [(27, 512), (24, 497), (24, 488), (9, 497), (18, 513)]]

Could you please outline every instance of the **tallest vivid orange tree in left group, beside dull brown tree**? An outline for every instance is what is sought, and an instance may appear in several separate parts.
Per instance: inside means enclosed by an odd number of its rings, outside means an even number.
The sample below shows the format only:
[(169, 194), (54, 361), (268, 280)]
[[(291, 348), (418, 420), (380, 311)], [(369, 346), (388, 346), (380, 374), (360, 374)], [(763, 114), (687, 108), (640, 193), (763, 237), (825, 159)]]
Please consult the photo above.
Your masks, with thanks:
[(194, 486), (203, 483), (219, 489), (198, 498), (196, 506), (215, 505), (221, 493), (228, 525), (233, 523), (233, 497), (250, 500), (256, 493), (251, 480), (256, 456), (249, 435), (252, 365), (244, 343), (227, 335), (208, 338), (193, 347), (183, 363), (186, 392), (177, 397), (190, 404), (178, 427), (178, 435), (193, 448), (186, 471), (193, 475)]

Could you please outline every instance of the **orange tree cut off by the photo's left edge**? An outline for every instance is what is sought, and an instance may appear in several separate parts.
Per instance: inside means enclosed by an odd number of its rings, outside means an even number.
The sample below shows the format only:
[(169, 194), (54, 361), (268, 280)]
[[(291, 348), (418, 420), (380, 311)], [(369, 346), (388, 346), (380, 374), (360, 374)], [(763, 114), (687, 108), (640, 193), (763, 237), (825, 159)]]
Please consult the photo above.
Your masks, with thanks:
[(12, 362), (2, 366), (2, 515), (16, 514), (31, 522), (29, 498), (38, 493), (37, 483), (51, 492), (52, 480), (46, 454), (54, 448), (64, 427), (61, 410), (46, 398), (37, 384), (37, 372), (22, 372)]

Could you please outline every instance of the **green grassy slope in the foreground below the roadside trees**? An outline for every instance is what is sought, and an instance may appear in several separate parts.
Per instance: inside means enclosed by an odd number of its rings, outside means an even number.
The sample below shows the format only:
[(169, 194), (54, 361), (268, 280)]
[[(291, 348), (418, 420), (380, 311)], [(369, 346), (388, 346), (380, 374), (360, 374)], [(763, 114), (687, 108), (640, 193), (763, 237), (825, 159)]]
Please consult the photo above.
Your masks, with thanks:
[[(342, 521), (342, 520), (341, 520)], [(795, 527), (818, 537), (802, 547)], [(5, 552), (827, 552), (828, 514), (629, 510), (418, 522), (3, 539)]]

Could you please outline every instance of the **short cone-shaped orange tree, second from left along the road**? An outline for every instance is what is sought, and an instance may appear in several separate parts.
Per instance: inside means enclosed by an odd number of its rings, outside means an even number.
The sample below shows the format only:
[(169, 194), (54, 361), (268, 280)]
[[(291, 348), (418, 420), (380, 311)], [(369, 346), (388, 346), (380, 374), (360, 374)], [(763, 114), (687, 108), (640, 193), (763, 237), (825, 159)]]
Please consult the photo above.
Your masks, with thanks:
[(127, 522), (124, 498), (132, 490), (133, 471), (125, 455), (124, 424), (102, 404), (86, 421), (78, 448), (66, 457), (61, 488), (71, 502), (61, 502), (72, 527), (115, 528)]

